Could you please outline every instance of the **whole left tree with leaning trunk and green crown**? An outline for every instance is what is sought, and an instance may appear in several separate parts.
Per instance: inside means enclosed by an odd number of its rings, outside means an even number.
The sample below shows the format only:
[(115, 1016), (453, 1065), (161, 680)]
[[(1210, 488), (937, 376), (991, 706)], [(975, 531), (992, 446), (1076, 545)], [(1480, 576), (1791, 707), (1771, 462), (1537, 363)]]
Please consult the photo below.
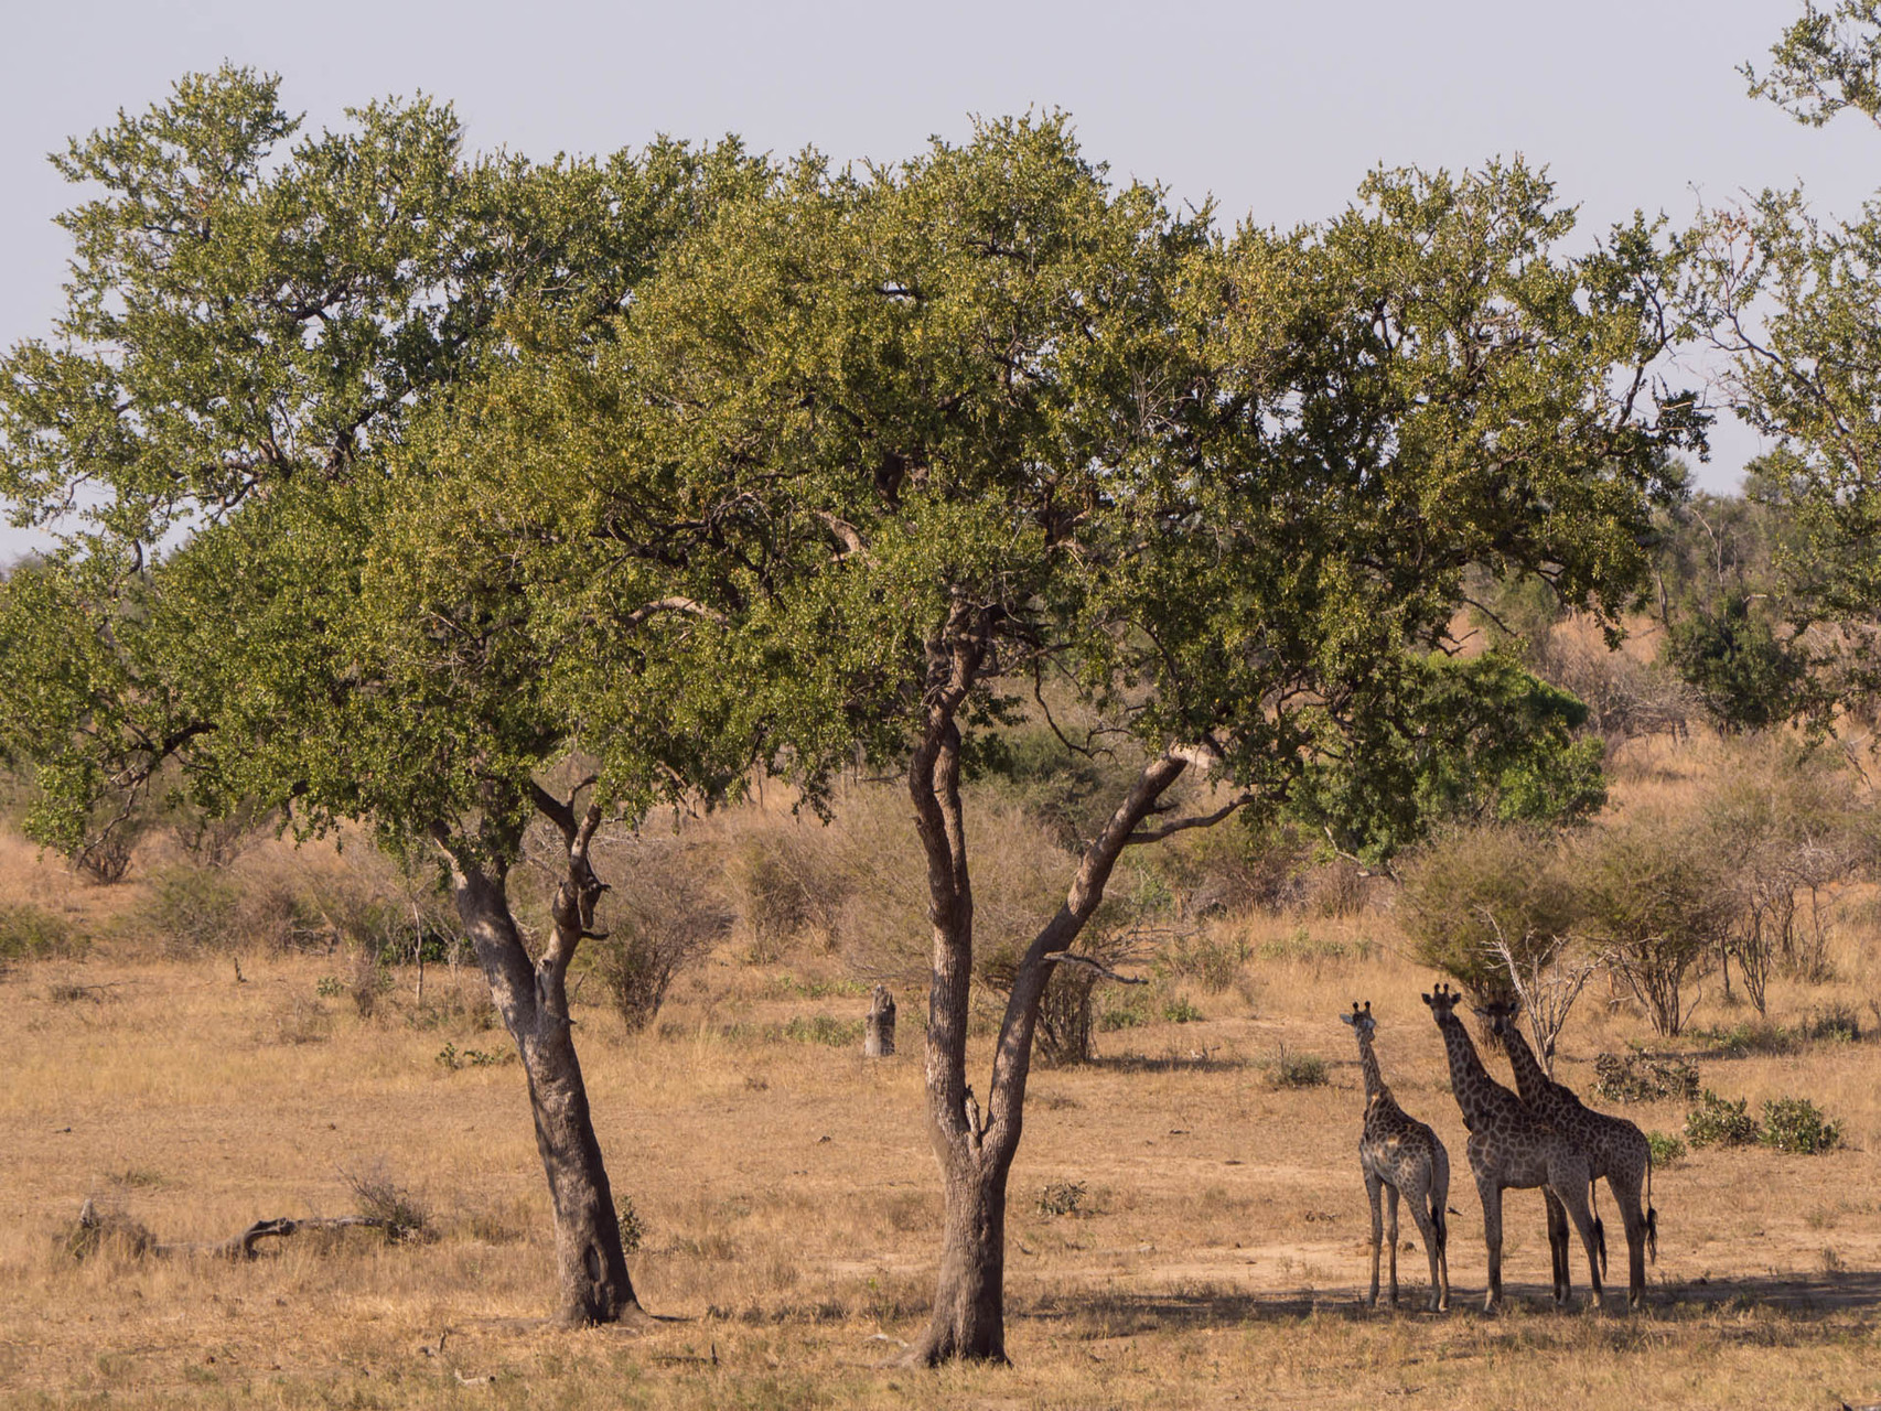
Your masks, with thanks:
[[(559, 1311), (615, 1319), (636, 1300), (564, 990), (602, 805), (544, 786), (574, 736), (504, 583), (397, 619), (395, 452), (530, 341), (608, 337), (715, 192), (764, 175), (735, 145), (466, 158), (427, 100), (293, 139), (277, 87), (192, 75), (55, 158), (102, 194), (62, 216), (53, 339), (0, 363), (0, 485), (15, 523), (62, 534), (0, 593), (0, 736), (38, 764), (34, 832), (71, 852), (169, 760), (207, 807), (435, 843), (523, 1057)], [(564, 841), (540, 954), (506, 892), (530, 818)]]

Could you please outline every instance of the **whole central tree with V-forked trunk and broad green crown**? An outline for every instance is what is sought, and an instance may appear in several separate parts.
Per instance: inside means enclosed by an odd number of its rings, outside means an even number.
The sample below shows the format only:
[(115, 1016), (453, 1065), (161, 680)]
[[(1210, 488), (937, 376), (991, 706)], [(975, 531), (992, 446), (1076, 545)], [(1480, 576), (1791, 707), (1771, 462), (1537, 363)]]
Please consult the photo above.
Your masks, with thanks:
[[(1223, 239), (1112, 188), (1063, 119), (993, 122), (897, 167), (801, 160), (675, 248), (617, 342), (414, 438), (419, 534), (476, 561), (466, 525), (523, 527), (506, 572), (561, 604), (549, 690), (606, 788), (645, 788), (634, 741), (683, 722), (814, 807), (858, 754), (901, 769), (946, 1189), (912, 1360), (1004, 1358), (1038, 1005), (1125, 848), (1467, 753), (1431, 704), (1510, 689), (1443, 657), (1473, 566), (1606, 613), (1636, 589), (1702, 431), (1653, 384), (1674, 254), (1640, 220), (1567, 258), (1571, 224), (1516, 166), (1379, 173), (1324, 228)], [(1067, 689), (1138, 768), (1004, 976), (982, 1099), (961, 769), (1020, 692)], [(1373, 749), (1403, 766), (1356, 768)]]

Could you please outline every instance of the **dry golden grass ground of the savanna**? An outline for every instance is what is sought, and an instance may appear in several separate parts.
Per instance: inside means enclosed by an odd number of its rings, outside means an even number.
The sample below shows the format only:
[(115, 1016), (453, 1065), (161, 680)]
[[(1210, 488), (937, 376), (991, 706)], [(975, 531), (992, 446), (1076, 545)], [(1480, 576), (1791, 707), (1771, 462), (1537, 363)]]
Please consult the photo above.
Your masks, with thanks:
[[(1704, 749), (1633, 745), (1629, 800), (1715, 768)], [(792, 824), (807, 826), (807, 824)], [(269, 845), (282, 847), (282, 845)], [(912, 850), (910, 850), (912, 856)], [(111, 935), (135, 880), (81, 888), (6, 839), (8, 901)], [(1881, 1091), (1872, 1029), (1881, 909), (1838, 899), (1834, 975), (1772, 984), (1772, 1018), (1823, 1005), (1858, 1042), (1731, 1055), (1653, 1040), (1603, 978), (1557, 1076), (1629, 1044), (1693, 1055), (1708, 1087), (1810, 1097), (1843, 1125), (1826, 1155), (1704, 1148), (1659, 1166), (1648, 1308), (1548, 1300), (1537, 1193), (1507, 1206), (1512, 1308), (1480, 1313), (1482, 1217), (1443, 1046), (1384, 903), (1347, 914), (1211, 922), (1232, 969), (1166, 975), (1146, 1022), (1099, 1061), (1038, 1070), (1012, 1176), (1014, 1368), (884, 1370), (920, 1328), (939, 1180), (924, 1131), (918, 986), (899, 986), (901, 1054), (854, 1042), (865, 986), (816, 944), (728, 937), (626, 1035), (577, 1003), (596, 1127), (641, 1230), (632, 1272), (658, 1317), (638, 1330), (542, 1324), (551, 1225), (521, 1072), (485, 1027), (472, 971), (416, 973), (361, 1016), (346, 958), (115, 944), (0, 976), (0, 1402), (8, 1405), (1836, 1405), (1881, 1400)], [(918, 941), (918, 939), (916, 939)], [(1206, 980), (1206, 982), (1204, 982)], [(1114, 997), (1106, 999), (1112, 1003)], [(1422, 1311), (1403, 1221), (1405, 1308), (1367, 1311), (1364, 1106), (1354, 999), (1379, 1018), (1401, 1104), (1452, 1155), (1454, 1308)], [(1183, 1022), (1174, 1022), (1181, 1016)], [(1196, 1018), (1198, 1016), (1198, 1018)], [(1699, 1027), (1749, 1010), (1706, 1001)], [(837, 1044), (820, 1042), (835, 1038)], [(986, 1070), (986, 1038), (974, 1072)], [(444, 1061), (440, 1061), (440, 1057)], [(1322, 1084), (1287, 1086), (1302, 1057)], [(1285, 1063), (1283, 1063), (1285, 1059)], [(1499, 1055), (1488, 1055), (1505, 1074)], [(1311, 1076), (1311, 1063), (1304, 1065)], [(1604, 1104), (1612, 1106), (1612, 1104)], [(1680, 1133), (1683, 1102), (1627, 1108)], [(303, 1234), (261, 1259), (73, 1260), (81, 1200), (162, 1240), (220, 1240), (258, 1217), (337, 1215), (350, 1178), (406, 1187), (429, 1240)]]

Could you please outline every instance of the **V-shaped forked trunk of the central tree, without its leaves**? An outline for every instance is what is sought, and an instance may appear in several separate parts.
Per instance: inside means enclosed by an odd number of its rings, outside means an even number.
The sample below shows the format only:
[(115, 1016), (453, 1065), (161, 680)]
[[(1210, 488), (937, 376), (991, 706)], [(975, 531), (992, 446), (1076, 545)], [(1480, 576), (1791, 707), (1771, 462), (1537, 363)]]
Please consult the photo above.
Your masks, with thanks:
[[(1067, 958), (1085, 922), (1104, 899), (1110, 873), (1132, 843), (1168, 830), (1138, 826), (1187, 768), (1176, 753), (1144, 766), (1104, 832), (1085, 848), (1057, 914), (1038, 931), (1020, 961), (999, 1029), (988, 1106), (982, 1114), (967, 1086), (967, 1014), (972, 980), (972, 879), (959, 798), (959, 728), (956, 713), (972, 689), (984, 638), (963, 630), (959, 610), (944, 643), (929, 647), (925, 721), (909, 762), (909, 796), (927, 856), (927, 914), (933, 927), (933, 976), (927, 995), (927, 1123), (940, 1163), (944, 1221), (935, 1308), (907, 1362), (1006, 1362), (1006, 1178), (1020, 1149), (1025, 1080), (1031, 1072), (1038, 1005), (1051, 971)], [(1226, 815), (1221, 815), (1226, 816)]]

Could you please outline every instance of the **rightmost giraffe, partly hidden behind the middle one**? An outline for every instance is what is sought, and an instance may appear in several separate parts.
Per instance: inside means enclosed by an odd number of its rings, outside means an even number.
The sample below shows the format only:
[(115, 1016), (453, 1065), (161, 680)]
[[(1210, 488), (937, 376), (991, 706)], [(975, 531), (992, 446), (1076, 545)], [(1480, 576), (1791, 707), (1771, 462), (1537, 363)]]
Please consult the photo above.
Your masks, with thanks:
[[(1509, 1054), (1509, 1067), (1516, 1074), (1516, 1091), (1522, 1101), (1548, 1125), (1573, 1136), (1580, 1149), (1588, 1153), (1588, 1178), (1597, 1181), (1603, 1176), (1620, 1206), (1620, 1223), (1627, 1232), (1627, 1304), (1638, 1308), (1646, 1298), (1646, 1259), (1659, 1262), (1659, 1212), (1652, 1208), (1652, 1146), (1646, 1134), (1625, 1118), (1608, 1118), (1593, 1112), (1574, 1093), (1554, 1082), (1535, 1059), (1535, 1052), (1522, 1037), (1516, 1023), (1520, 1007), (1512, 1001), (1497, 1001), (1478, 1010), (1490, 1022), (1490, 1029), (1503, 1040)], [(1644, 1200), (1640, 1191), (1644, 1187)], [(1550, 1210), (1548, 1244), (1559, 1247), (1559, 1262), (1567, 1262), (1567, 1223), (1556, 1227), (1556, 1212)], [(1559, 1234), (1557, 1234), (1559, 1229)], [(1595, 1242), (1601, 1247), (1601, 1266), (1606, 1264), (1606, 1238), (1601, 1221), (1593, 1221)]]

